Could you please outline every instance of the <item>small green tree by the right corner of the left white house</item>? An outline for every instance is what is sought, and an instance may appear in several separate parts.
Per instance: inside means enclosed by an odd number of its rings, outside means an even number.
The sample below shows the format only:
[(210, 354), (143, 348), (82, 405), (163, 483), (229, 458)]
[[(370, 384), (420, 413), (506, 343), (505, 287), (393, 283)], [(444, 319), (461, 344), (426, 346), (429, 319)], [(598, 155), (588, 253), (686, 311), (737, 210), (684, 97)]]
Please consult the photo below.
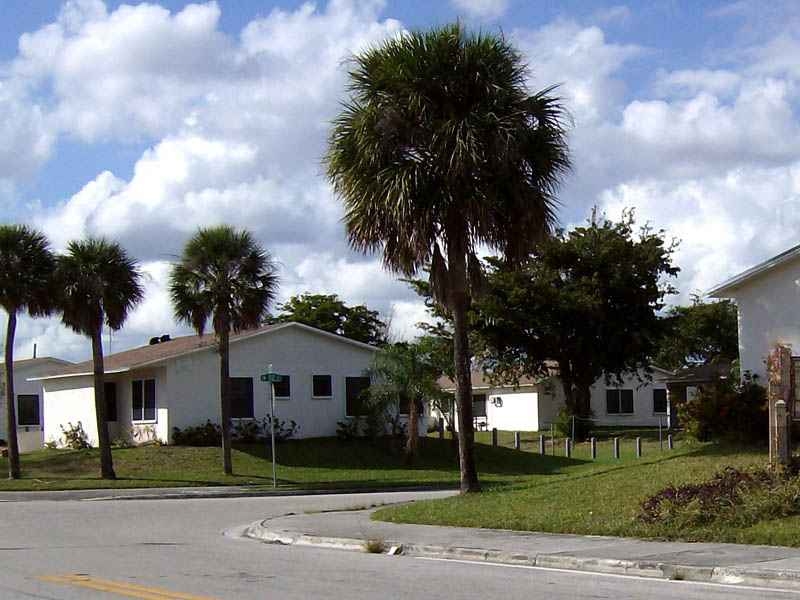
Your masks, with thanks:
[(419, 417), (424, 402), (442, 394), (437, 381), (437, 367), (431, 348), (421, 343), (397, 342), (384, 346), (373, 361), (372, 371), (378, 386), (388, 391), (400, 414), (408, 415), (406, 460), (414, 461), (419, 448)]

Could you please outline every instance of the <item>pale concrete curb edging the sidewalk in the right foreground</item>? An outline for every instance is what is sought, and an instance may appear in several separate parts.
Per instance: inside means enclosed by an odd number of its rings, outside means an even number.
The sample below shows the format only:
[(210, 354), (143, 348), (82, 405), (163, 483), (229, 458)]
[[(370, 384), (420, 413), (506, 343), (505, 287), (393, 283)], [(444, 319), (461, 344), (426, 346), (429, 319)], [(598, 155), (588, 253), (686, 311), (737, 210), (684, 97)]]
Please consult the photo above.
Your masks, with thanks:
[[(316, 536), (289, 530), (276, 531), (270, 529), (269, 521), (270, 519), (252, 523), (244, 529), (243, 537), (268, 544), (366, 552), (367, 539)], [(561, 553), (526, 554), (486, 548), (438, 546), (391, 540), (381, 541), (384, 546), (384, 554), (522, 565), (587, 573), (630, 575), (675, 581), (697, 581), (800, 590), (800, 571), (682, 565), (648, 560), (591, 558)], [(390, 549), (394, 550), (394, 552), (387, 552)]]

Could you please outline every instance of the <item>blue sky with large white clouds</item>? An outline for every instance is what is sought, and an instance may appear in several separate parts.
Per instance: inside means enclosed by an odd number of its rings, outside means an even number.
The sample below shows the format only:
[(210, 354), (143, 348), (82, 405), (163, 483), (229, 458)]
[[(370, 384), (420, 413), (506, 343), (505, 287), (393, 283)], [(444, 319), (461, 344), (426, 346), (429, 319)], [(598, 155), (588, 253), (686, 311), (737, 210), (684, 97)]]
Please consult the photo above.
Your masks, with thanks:
[[(118, 240), (146, 300), (107, 351), (177, 325), (170, 262), (198, 227), (253, 231), (280, 299), (337, 293), (412, 337), (425, 311), (348, 248), (323, 176), (346, 59), (460, 19), (502, 32), (531, 91), (558, 84), (574, 168), (560, 224), (634, 209), (680, 240), (687, 302), (798, 243), (800, 4), (653, 0), (0, 0), (0, 211), (54, 249)], [(0, 316), (5, 327), (5, 316)], [(58, 319), (21, 320), (16, 355), (88, 359)]]

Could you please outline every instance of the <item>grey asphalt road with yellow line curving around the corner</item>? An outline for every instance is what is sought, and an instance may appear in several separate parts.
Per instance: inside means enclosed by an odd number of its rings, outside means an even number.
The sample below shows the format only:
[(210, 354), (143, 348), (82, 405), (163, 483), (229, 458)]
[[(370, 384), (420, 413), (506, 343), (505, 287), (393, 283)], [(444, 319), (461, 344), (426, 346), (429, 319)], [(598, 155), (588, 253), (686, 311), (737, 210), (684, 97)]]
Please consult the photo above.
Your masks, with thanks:
[(2, 503), (0, 598), (800, 597), (681, 581), (270, 546), (235, 536), (239, 525), (288, 512), (438, 494)]

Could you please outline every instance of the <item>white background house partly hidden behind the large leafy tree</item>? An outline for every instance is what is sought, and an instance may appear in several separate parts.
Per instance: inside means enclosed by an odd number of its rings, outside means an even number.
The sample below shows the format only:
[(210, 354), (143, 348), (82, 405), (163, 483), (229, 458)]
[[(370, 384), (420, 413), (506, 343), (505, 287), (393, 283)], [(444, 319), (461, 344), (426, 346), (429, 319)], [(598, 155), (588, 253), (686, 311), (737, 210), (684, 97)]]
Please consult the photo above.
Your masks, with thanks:
[[(667, 379), (671, 371), (652, 367), (626, 375), (621, 381), (598, 379), (591, 389), (592, 421), (616, 427), (667, 426), (669, 397)], [(550, 428), (564, 407), (564, 390), (557, 369), (541, 378), (523, 377), (518, 385), (492, 384), (481, 371), (472, 373), (472, 414), (475, 428), (544, 431)], [(454, 392), (450, 379), (440, 381), (444, 391)], [(434, 417), (438, 413), (434, 413)]]

